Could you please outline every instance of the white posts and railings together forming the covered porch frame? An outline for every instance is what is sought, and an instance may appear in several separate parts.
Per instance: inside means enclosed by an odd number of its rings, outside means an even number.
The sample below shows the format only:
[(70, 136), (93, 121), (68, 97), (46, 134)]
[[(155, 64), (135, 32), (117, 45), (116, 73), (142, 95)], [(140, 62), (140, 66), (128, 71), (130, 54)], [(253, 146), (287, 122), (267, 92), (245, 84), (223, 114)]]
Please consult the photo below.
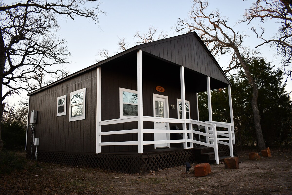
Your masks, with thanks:
[[(147, 53), (147, 52), (146, 52)], [(144, 54), (144, 51), (143, 51)], [(180, 95), (181, 95), (181, 105), (186, 104), (186, 93), (185, 93), (185, 67), (179, 66), (180, 70)], [(101, 82), (101, 67), (97, 68), (97, 81)], [(183, 150), (188, 151), (193, 149), (197, 145), (208, 146), (214, 149), (215, 161), (219, 163), (218, 155), (218, 144), (229, 146), (229, 156), (233, 155), (233, 144), (235, 144), (234, 139), (234, 124), (233, 124), (233, 112), (232, 112), (232, 101), (231, 101), (231, 90), (230, 85), (228, 85), (228, 94), (230, 102), (230, 122), (216, 122), (212, 120), (212, 106), (211, 106), (211, 84), (209, 76), (201, 76), (205, 78), (200, 82), (205, 82), (207, 86), (208, 93), (208, 109), (209, 109), (209, 120), (199, 121), (199, 110), (197, 109), (198, 120), (187, 118), (187, 111), (185, 106), (181, 106), (181, 119), (180, 118), (168, 118), (168, 117), (155, 117), (155, 116), (145, 116), (143, 115), (143, 85), (142, 85), (142, 50), (137, 51), (137, 95), (138, 95), (138, 113), (137, 116), (117, 118), (112, 120), (101, 120), (101, 85), (97, 86), (97, 124), (96, 124), (96, 153), (102, 153), (102, 146), (122, 146), (122, 145), (137, 145), (139, 154), (145, 153), (144, 146), (158, 144), (167, 144), (168, 147), (171, 144), (181, 143)], [(198, 84), (197, 84), (198, 85)], [(196, 93), (197, 98), (197, 93)], [(197, 101), (198, 102), (198, 101)], [(198, 107), (197, 107), (198, 108)], [(102, 132), (102, 126), (123, 124), (128, 122), (137, 122), (137, 128), (129, 130), (110, 130), (107, 132)], [(178, 128), (171, 128), (171, 125), (165, 125), (166, 128), (161, 129), (147, 129), (143, 127), (143, 123), (162, 123), (162, 124), (172, 124), (172, 126)], [(220, 130), (217, 128), (220, 127)], [(138, 134), (138, 139), (136, 141), (102, 141), (102, 136), (107, 135), (120, 135), (120, 134)], [(180, 134), (182, 139), (170, 139), (167, 137), (163, 140), (144, 140), (143, 134)], [(204, 141), (203, 141), (204, 138)], [(156, 147), (155, 147), (156, 148)], [(160, 149), (161, 150), (161, 149)], [(126, 152), (130, 155), (131, 152)]]

